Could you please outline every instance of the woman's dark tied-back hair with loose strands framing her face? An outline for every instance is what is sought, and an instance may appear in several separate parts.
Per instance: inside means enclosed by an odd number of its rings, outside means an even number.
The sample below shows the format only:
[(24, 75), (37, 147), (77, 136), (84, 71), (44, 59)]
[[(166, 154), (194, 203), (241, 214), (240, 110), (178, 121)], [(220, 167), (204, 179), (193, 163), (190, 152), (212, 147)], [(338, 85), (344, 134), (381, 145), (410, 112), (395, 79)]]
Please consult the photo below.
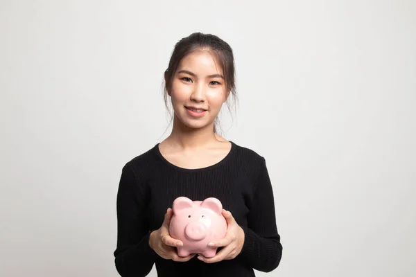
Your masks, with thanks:
[[(200, 50), (201, 48), (206, 48), (216, 57), (216, 60), (221, 66), (221, 69), (223, 69), (225, 88), (227, 89), (227, 93), (231, 93), (232, 96), (236, 99), (235, 66), (232, 48), (229, 46), (229, 44), (227, 44), (227, 42), (224, 42), (223, 39), (220, 39), (216, 35), (193, 33), (189, 35), (189, 37), (180, 39), (180, 41), (175, 44), (175, 48), (173, 48), (171, 55), (171, 60), (169, 60), (168, 69), (166, 69), (164, 73), (164, 102), (168, 110), (168, 90), (171, 90), (173, 76), (175, 75), (180, 61), (186, 55)], [(229, 111), (231, 111), (229, 106), (229, 98), (227, 98), (227, 106)], [(218, 118), (216, 118), (214, 123), (214, 132), (216, 133), (217, 124)]]

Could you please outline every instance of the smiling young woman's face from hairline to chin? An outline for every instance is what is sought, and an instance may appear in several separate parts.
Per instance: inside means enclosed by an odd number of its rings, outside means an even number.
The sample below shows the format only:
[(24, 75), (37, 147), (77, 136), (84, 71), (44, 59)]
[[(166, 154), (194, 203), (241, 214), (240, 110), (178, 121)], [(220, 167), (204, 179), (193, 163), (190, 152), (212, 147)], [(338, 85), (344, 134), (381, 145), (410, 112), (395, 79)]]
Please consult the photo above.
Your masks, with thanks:
[(182, 58), (173, 76), (171, 91), (177, 119), (191, 128), (213, 125), (227, 100), (223, 71), (209, 51)]

